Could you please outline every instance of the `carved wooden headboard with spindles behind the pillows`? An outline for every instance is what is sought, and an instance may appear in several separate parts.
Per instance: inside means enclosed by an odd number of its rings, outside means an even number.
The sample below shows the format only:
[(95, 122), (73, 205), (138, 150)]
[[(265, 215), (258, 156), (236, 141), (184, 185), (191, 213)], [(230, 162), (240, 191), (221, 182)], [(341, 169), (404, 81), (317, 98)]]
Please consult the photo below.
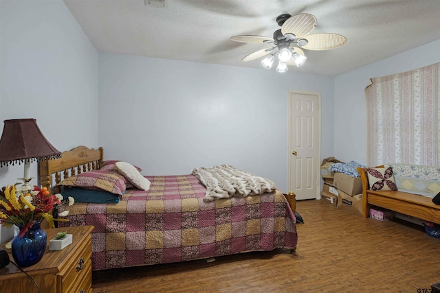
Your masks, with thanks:
[[(61, 154), (60, 159), (41, 161), (39, 163), (40, 185), (51, 188), (61, 180), (83, 172), (99, 169), (102, 163), (104, 149), (87, 148), (80, 145)], [(63, 174), (63, 178), (61, 178)], [(55, 183), (52, 178), (55, 176)], [(59, 192), (59, 189), (54, 191)]]

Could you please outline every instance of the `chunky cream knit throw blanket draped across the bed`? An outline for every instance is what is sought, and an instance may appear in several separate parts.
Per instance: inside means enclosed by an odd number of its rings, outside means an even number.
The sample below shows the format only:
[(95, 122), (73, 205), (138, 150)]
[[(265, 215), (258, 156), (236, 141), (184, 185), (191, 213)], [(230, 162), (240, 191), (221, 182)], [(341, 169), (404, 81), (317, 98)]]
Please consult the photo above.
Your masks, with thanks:
[(206, 194), (203, 198), (205, 202), (232, 196), (256, 196), (276, 189), (275, 183), (271, 180), (236, 169), (231, 165), (195, 168), (192, 170), (192, 175), (206, 186)]

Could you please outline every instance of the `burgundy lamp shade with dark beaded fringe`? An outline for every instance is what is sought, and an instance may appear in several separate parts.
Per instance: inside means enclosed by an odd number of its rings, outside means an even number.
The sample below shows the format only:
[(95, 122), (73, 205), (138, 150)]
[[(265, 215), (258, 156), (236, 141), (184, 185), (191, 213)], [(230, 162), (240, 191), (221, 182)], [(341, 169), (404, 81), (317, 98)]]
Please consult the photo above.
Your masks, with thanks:
[(44, 137), (36, 119), (5, 120), (0, 139), (0, 167), (42, 161), (61, 156), (56, 148)]

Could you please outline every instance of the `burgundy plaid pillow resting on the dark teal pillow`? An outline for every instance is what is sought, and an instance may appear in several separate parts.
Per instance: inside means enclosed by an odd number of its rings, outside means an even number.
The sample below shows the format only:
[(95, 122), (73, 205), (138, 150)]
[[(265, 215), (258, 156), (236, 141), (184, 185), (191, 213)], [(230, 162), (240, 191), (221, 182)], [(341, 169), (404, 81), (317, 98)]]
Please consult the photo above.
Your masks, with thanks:
[(57, 185), (102, 189), (122, 198), (126, 189), (126, 178), (116, 170), (100, 169), (65, 178)]

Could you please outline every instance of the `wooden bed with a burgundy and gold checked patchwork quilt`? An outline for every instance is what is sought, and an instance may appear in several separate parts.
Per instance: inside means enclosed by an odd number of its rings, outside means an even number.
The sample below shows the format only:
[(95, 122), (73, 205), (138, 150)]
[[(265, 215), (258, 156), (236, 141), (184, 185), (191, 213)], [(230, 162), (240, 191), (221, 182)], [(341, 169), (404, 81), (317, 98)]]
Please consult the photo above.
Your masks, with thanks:
[[(79, 146), (63, 152), (60, 159), (39, 163), (40, 182), (63, 194), (69, 188), (60, 183), (105, 172), (106, 162), (114, 161), (103, 161), (102, 148)], [(127, 183), (117, 203), (75, 202), (65, 207), (69, 222), (58, 222), (59, 226), (94, 226), (93, 270), (296, 249), (292, 194), (289, 201), (277, 189), (206, 202), (206, 186), (192, 174), (144, 178), (151, 183), (148, 191)]]

